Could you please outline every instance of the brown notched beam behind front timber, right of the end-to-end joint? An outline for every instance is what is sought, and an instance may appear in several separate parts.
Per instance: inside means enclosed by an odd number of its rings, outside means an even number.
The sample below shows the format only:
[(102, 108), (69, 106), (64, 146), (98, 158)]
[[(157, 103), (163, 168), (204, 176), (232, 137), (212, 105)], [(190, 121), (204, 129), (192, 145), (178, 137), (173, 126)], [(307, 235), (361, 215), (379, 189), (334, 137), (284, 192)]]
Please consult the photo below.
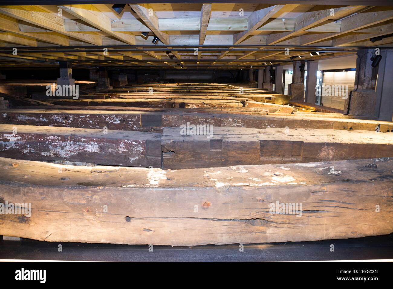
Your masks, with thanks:
[[(189, 127), (189, 128), (188, 128)], [(393, 156), (393, 134), (330, 129), (165, 127), (163, 168), (286, 164)], [(196, 134), (196, 135), (195, 135)]]

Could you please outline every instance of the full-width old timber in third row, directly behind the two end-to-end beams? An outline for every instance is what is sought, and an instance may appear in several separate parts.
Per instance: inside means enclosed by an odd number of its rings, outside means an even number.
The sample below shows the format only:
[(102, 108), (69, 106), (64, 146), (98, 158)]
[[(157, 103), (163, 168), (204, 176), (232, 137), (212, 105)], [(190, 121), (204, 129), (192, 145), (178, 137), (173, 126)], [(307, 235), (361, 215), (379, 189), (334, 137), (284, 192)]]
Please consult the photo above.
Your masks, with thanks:
[[(276, 114), (276, 113), (274, 113)], [(248, 115), (231, 111), (198, 110), (194, 112), (160, 111), (103, 111), (103, 110), (37, 110), (0, 109), (0, 123), (18, 125), (40, 125), (59, 127), (79, 127), (85, 129), (117, 129), (125, 131), (162, 132), (164, 127), (179, 127), (187, 122), (192, 124), (211, 124), (215, 127), (231, 126), (264, 129), (279, 127), (288, 129), (340, 129), (347, 131), (365, 130), (393, 132), (390, 121), (356, 120), (333, 118), (329, 115), (290, 116)]]

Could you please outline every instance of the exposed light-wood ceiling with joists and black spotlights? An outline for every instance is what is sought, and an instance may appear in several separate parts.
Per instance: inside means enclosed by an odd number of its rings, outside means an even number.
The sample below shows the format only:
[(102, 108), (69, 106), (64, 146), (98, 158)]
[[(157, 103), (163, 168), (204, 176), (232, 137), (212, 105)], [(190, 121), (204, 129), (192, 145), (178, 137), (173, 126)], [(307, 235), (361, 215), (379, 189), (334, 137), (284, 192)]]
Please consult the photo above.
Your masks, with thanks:
[[(0, 6), (0, 31), (0, 67), (73, 61), (81, 67), (236, 69), (392, 47), (393, 6), (130, 4), (120, 14), (112, 4)], [(310, 55), (316, 51), (324, 53)]]

